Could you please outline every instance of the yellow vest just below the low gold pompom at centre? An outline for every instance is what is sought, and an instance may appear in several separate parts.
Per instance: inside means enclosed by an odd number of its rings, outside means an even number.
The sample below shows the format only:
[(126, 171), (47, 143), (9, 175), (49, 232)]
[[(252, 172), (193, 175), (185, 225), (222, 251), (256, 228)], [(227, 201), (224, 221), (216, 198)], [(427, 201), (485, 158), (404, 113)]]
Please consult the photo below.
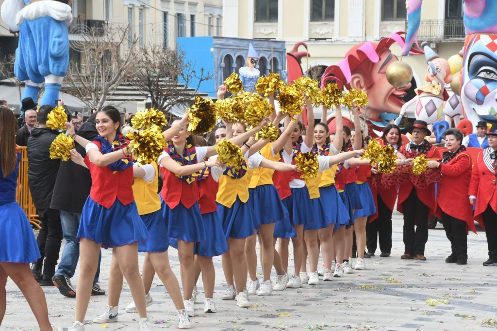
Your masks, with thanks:
[(219, 177), (219, 190), (216, 202), (231, 208), (237, 197), (242, 202), (248, 200), (248, 183), (252, 178), (253, 171), (247, 167), (247, 173), (242, 178), (233, 178), (228, 175)]

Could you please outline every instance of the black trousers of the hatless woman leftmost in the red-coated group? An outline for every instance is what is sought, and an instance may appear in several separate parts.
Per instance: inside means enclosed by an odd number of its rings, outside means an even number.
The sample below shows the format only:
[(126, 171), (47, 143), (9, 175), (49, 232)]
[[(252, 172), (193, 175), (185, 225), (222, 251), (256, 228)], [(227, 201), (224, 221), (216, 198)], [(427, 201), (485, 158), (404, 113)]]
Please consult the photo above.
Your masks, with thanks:
[(392, 210), (383, 202), (378, 195), (378, 218), (366, 223), (366, 247), (368, 252), (375, 252), (378, 237), (380, 238), (380, 251), (390, 253), (392, 251)]

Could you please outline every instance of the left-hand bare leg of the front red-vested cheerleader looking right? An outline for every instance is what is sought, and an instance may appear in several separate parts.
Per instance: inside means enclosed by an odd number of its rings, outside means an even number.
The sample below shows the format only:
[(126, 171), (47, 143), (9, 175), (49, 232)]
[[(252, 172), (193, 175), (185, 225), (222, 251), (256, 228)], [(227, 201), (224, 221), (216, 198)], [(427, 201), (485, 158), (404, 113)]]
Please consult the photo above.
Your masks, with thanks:
[(91, 287), (98, 265), (100, 244), (87, 238), (80, 239), (80, 275), (76, 296), (76, 321), (83, 323), (90, 302)]

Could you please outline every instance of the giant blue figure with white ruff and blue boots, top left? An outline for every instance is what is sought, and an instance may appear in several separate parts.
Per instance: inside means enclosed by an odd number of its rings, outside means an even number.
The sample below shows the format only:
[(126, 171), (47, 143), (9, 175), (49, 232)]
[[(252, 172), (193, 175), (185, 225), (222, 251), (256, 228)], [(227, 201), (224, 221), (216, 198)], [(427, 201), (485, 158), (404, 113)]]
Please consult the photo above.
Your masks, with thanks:
[(45, 83), (39, 104), (55, 105), (69, 68), (71, 6), (54, 0), (5, 0), (1, 17), (10, 30), (19, 32), (14, 74), (26, 83), (21, 99), (36, 102)]

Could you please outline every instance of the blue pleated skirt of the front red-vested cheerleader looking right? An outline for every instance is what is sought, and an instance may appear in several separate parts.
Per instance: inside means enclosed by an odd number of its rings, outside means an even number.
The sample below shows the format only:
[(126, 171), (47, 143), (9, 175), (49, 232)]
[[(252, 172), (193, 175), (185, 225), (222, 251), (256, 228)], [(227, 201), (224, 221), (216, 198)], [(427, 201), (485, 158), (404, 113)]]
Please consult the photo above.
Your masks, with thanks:
[(116, 199), (108, 209), (91, 197), (84, 202), (78, 239), (87, 238), (109, 248), (144, 241), (149, 236), (135, 201), (124, 205)]

